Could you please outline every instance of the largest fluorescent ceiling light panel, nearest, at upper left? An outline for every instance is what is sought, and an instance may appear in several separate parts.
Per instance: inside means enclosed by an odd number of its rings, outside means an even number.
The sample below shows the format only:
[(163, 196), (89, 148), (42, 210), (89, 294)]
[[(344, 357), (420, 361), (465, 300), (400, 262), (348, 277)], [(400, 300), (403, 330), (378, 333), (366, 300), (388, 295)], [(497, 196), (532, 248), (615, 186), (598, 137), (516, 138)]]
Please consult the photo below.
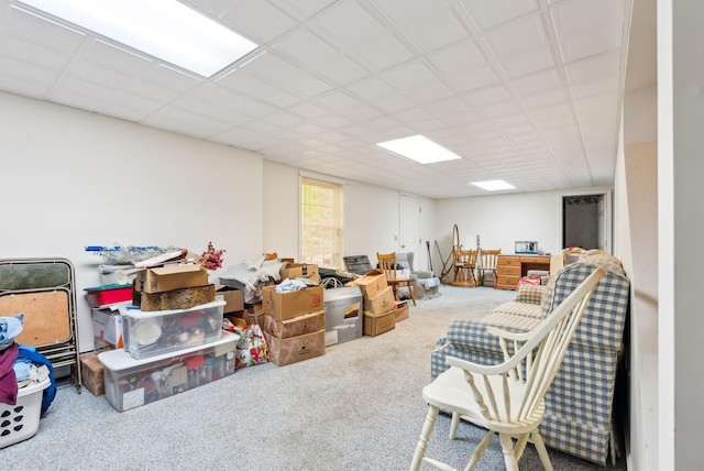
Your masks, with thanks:
[(257, 47), (174, 0), (21, 2), (205, 77), (213, 76)]

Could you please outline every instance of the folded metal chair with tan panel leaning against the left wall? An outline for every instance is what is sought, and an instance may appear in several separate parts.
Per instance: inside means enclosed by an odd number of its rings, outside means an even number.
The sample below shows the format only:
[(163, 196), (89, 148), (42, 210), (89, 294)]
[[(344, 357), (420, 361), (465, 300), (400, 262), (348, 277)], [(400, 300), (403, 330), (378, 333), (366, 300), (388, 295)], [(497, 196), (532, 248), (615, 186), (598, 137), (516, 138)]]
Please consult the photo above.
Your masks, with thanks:
[(36, 347), (54, 369), (69, 366), (80, 393), (75, 280), (66, 259), (0, 259), (0, 316), (23, 314), (15, 341)]

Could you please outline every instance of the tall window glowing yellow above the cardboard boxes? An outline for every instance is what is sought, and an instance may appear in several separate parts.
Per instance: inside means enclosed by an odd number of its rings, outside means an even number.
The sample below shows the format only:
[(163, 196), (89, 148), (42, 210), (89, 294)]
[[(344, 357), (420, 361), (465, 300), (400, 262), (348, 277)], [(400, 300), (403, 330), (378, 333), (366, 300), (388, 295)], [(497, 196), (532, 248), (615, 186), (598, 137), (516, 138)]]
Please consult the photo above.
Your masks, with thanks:
[(342, 266), (342, 185), (302, 177), (300, 260), (326, 269)]

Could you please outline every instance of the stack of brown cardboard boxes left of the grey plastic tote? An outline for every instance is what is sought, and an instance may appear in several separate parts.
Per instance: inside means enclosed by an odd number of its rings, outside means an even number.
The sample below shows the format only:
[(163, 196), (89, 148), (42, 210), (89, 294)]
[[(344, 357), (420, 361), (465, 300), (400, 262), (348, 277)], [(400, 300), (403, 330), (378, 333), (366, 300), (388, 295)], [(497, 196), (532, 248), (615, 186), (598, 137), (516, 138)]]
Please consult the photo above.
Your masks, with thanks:
[[(287, 263), (282, 280), (307, 278), (320, 283), (318, 266)], [(326, 311), (323, 287), (279, 293), (278, 285), (262, 288), (262, 314), (257, 321), (272, 363), (284, 366), (326, 352)]]

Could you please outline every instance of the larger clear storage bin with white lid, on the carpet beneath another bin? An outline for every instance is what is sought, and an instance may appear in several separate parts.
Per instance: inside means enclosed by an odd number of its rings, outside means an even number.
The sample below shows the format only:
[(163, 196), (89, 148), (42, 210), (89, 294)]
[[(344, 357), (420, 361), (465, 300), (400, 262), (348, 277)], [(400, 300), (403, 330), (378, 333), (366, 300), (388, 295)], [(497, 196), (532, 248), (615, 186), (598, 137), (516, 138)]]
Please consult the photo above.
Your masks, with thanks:
[(234, 373), (240, 336), (223, 331), (220, 340), (155, 358), (135, 360), (124, 349), (98, 354), (106, 398), (118, 412), (193, 390)]

